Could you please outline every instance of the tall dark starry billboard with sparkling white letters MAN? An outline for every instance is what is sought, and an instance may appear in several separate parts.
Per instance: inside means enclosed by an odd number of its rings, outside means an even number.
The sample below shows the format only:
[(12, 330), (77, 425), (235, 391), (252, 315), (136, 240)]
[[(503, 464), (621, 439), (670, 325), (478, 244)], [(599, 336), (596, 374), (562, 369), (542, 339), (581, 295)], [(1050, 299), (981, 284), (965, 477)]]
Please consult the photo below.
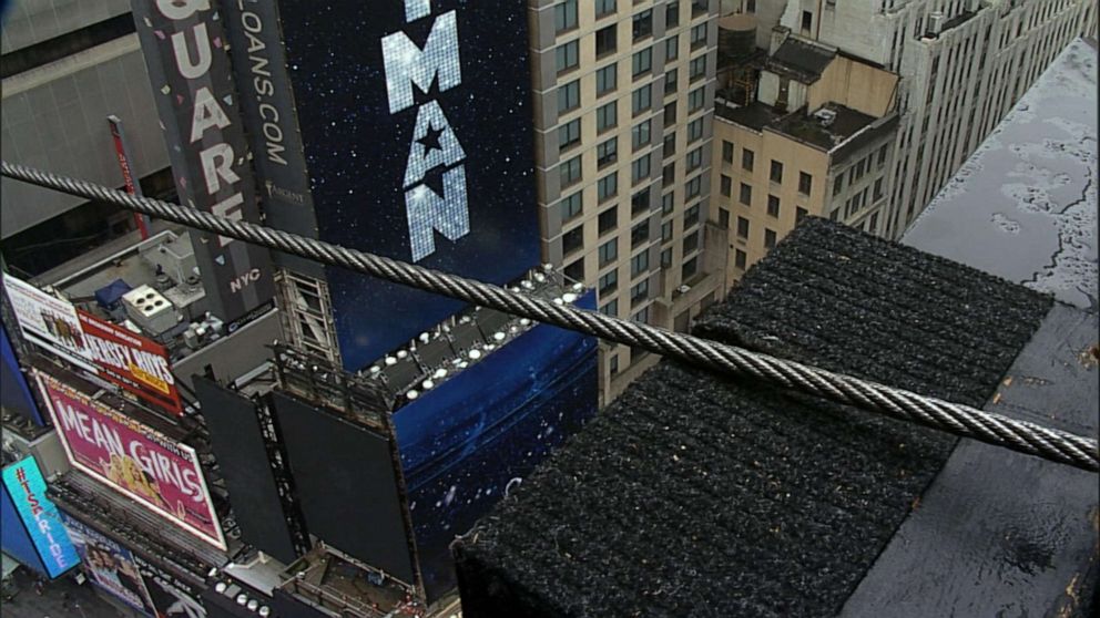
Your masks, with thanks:
[[(539, 260), (527, 2), (279, 3), (320, 237), (503, 284)], [(329, 269), (355, 370), (461, 303)]]

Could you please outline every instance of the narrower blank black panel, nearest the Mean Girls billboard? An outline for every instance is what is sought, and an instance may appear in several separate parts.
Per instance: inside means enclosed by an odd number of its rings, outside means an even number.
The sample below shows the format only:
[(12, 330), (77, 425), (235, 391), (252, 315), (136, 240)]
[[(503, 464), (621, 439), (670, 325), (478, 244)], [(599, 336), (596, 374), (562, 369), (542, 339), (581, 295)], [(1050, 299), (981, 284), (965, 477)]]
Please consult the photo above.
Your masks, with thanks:
[(202, 375), (194, 377), (194, 385), (241, 538), (283, 563), (292, 563), (297, 552), (279, 501), (256, 404)]

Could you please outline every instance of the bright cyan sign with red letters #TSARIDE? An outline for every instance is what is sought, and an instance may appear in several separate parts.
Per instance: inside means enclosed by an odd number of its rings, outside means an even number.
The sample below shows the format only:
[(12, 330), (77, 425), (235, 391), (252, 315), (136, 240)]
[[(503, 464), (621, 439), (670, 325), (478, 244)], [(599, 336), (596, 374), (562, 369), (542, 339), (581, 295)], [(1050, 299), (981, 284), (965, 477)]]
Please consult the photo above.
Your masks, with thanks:
[(3, 468), (3, 484), (50, 577), (77, 566), (80, 556), (61, 523), (58, 507), (45, 496), (45, 480), (34, 457), (27, 456)]

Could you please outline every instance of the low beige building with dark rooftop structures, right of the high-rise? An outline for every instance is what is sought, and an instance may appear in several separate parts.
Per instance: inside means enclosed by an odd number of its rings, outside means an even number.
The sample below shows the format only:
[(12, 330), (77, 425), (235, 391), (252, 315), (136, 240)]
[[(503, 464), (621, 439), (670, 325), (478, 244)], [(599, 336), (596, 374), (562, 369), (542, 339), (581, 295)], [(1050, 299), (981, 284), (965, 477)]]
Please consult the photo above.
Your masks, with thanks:
[[(725, 20), (722, 25), (751, 24)], [(756, 100), (715, 104), (711, 193), (715, 222), (729, 229), (727, 286), (804, 216), (872, 234), (885, 227), (897, 75), (782, 27), (770, 45), (748, 84)], [(735, 72), (720, 69), (724, 94), (739, 90)]]

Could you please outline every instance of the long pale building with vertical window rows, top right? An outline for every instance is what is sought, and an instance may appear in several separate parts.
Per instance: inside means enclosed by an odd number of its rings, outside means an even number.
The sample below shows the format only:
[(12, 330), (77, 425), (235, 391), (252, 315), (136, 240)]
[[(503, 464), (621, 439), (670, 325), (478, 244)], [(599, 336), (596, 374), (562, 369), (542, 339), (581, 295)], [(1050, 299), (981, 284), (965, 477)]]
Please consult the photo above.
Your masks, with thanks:
[(900, 78), (880, 234), (897, 238), (1070, 41), (1094, 34), (1087, 0), (734, 0), (756, 19)]

